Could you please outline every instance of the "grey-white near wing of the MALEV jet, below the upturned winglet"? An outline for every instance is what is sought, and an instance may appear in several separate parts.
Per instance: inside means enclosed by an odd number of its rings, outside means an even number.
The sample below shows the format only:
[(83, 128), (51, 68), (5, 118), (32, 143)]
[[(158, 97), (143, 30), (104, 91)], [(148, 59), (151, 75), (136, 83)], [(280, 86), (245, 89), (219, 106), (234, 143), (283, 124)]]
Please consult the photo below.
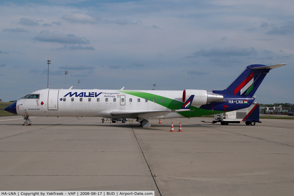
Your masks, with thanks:
[(168, 113), (172, 112), (182, 112), (182, 111), (193, 111), (190, 109), (180, 109), (180, 110), (155, 110), (155, 111), (112, 111), (110, 114), (112, 116), (122, 116), (122, 115), (128, 115), (131, 117), (136, 116), (149, 116), (149, 117), (158, 117), (158, 116), (166, 116)]

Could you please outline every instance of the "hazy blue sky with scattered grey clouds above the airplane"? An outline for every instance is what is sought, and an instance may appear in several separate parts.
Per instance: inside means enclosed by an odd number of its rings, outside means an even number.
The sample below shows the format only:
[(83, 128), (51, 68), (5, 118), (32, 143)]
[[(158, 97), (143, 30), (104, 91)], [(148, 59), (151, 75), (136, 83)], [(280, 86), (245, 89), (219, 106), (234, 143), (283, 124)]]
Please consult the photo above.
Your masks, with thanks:
[(0, 98), (47, 88), (223, 90), (251, 64), (260, 103), (294, 103), (293, 1), (1, 1)]

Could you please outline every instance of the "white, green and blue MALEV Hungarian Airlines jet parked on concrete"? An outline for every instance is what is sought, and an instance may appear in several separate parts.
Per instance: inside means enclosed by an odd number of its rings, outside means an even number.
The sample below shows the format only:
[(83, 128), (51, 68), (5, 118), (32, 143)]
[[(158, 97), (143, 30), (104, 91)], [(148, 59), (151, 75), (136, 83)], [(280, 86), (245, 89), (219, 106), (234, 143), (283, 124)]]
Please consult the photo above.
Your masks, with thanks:
[(150, 119), (192, 118), (247, 108), (266, 74), (286, 64), (249, 65), (222, 91), (47, 88), (20, 98), (4, 110), (23, 115), (23, 125), (31, 125), (29, 116), (85, 116), (122, 119), (122, 123), (132, 118), (142, 127), (151, 127)]

